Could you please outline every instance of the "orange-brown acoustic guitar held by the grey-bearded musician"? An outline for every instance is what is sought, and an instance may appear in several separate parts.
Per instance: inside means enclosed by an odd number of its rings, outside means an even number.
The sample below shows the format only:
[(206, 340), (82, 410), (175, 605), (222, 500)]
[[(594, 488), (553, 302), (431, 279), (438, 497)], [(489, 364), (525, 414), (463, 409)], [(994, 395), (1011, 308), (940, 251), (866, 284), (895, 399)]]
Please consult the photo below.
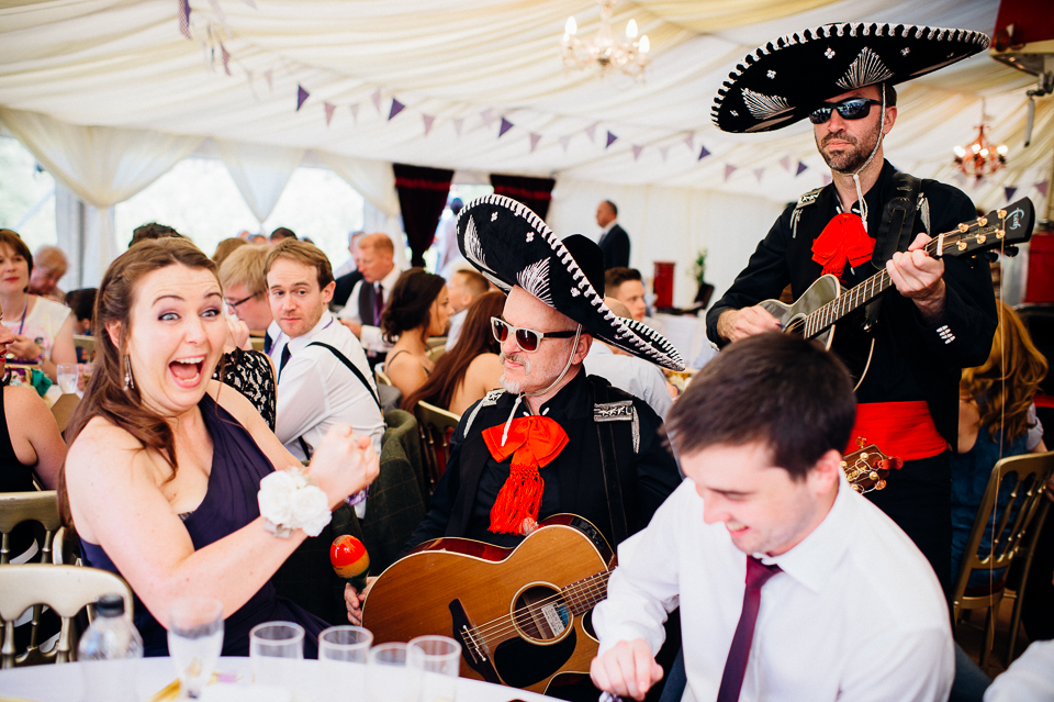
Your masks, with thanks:
[(516, 548), (467, 538), (422, 544), (373, 582), (362, 626), (373, 642), (439, 634), (461, 643), (461, 677), (545, 692), (588, 675), (588, 623), (615, 565), (588, 521), (557, 514)]

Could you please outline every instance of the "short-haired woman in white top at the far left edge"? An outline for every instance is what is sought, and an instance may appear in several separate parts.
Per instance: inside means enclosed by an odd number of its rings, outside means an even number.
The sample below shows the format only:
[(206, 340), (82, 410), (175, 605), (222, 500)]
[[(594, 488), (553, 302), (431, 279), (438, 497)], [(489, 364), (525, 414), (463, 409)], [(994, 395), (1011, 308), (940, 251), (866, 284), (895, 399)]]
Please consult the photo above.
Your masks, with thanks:
[(52, 382), (58, 364), (76, 364), (74, 316), (66, 305), (26, 292), (33, 255), (22, 237), (0, 230), (0, 307), (3, 325), (14, 334), (8, 363), (33, 364)]

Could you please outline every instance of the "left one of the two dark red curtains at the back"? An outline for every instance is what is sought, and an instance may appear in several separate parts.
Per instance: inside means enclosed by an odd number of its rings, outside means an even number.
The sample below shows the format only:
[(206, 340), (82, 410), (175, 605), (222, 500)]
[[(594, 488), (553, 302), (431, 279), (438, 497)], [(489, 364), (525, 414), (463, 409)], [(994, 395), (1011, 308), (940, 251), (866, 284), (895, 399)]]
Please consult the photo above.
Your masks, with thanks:
[(393, 166), (399, 207), (403, 211), (403, 229), (410, 241), (410, 265), (423, 267), (425, 252), (431, 246), (442, 209), (447, 205), (453, 171), (406, 164)]

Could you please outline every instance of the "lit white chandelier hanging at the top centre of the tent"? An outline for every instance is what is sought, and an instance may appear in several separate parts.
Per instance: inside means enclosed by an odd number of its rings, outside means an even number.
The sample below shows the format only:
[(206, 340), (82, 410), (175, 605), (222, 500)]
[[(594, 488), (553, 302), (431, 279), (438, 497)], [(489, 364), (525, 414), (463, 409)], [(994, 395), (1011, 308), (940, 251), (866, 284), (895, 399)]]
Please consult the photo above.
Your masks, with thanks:
[(575, 36), (579, 25), (568, 18), (563, 27), (563, 65), (565, 68), (595, 70), (607, 75), (618, 70), (638, 81), (644, 79), (644, 66), (651, 63), (648, 52), (651, 43), (644, 34), (637, 38), (637, 21), (626, 24), (626, 37), (615, 37), (612, 31), (612, 8), (618, 0), (596, 0), (601, 5), (601, 29), (593, 36)]

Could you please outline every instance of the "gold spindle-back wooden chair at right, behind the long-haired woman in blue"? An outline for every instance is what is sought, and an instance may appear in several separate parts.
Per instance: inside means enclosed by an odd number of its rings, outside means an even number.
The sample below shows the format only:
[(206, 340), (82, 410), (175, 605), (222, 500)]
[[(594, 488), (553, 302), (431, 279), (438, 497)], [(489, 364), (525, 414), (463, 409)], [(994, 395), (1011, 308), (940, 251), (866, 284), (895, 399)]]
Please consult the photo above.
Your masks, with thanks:
[[(965, 610), (986, 610), (985, 642), (980, 649), (980, 665), (987, 664), (991, 653), (996, 616), (1006, 593), (1006, 573), (990, 587), (967, 589), (971, 571), (1009, 569), (1023, 551), (1029, 525), (1039, 512), (1046, 479), (1054, 470), (1054, 452), (1011, 456), (999, 460), (991, 470), (974, 526), (963, 550), (962, 566), (952, 590), (952, 621), (957, 622)], [(998, 504), (1000, 488), (1009, 488), (1005, 505)], [(978, 554), (985, 533), (991, 528), (991, 546)]]

